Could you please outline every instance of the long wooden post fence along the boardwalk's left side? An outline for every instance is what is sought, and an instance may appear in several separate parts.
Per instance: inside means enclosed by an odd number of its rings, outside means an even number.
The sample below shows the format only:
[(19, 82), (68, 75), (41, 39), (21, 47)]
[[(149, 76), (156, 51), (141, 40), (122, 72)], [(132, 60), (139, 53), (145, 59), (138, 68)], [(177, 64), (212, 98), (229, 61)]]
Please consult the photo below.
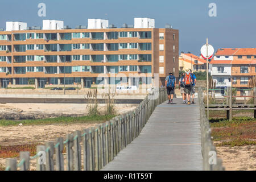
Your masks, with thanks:
[(31, 159), (36, 159), (37, 171), (64, 171), (64, 164), (68, 171), (100, 170), (138, 137), (155, 107), (166, 100), (165, 88), (153, 90), (136, 109), (126, 114), (118, 115), (96, 127), (67, 134), (65, 140), (58, 137), (54, 142), (46, 142), (45, 146), (37, 146), (35, 156), (21, 151), (19, 164), (16, 159), (6, 159), (6, 171), (27, 171)]

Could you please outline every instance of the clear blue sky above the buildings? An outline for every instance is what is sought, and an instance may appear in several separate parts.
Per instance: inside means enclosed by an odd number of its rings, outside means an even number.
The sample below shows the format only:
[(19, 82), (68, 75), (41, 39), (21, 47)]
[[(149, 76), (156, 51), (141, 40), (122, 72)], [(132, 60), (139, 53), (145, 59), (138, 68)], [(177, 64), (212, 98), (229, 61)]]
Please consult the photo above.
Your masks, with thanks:
[[(46, 3), (46, 17), (38, 16), (38, 4)], [(209, 3), (216, 3), (217, 17), (210, 17)], [(43, 19), (64, 20), (74, 28), (87, 25), (88, 18), (109, 19), (121, 27), (134, 24), (135, 17), (155, 19), (155, 27), (166, 23), (179, 30), (179, 51), (199, 55), (208, 37), (214, 49), (256, 46), (255, 0), (1, 0), (0, 27), (6, 21), (41, 26)]]

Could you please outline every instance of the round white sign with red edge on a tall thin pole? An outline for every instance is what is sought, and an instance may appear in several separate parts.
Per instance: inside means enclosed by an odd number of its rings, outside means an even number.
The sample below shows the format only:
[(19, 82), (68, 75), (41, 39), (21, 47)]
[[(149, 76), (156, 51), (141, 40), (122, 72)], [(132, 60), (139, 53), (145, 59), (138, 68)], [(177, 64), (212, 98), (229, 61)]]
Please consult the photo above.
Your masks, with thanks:
[(207, 43), (201, 47), (201, 56), (207, 60), (207, 119), (209, 119), (209, 67), (208, 67), (208, 60), (212, 59), (214, 53), (214, 48)]

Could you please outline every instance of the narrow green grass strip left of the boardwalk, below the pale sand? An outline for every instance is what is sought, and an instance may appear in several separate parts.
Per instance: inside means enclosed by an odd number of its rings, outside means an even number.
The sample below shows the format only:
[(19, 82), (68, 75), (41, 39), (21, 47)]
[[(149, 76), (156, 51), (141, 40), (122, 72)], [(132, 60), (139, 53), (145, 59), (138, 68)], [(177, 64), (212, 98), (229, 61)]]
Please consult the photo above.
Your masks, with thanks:
[(47, 119), (24, 119), (20, 121), (0, 120), (0, 126), (18, 126), (22, 125), (51, 125), (56, 123), (70, 124), (70, 123), (95, 123), (109, 121), (115, 115), (97, 115), (97, 116), (82, 116), (82, 117), (57, 117)]

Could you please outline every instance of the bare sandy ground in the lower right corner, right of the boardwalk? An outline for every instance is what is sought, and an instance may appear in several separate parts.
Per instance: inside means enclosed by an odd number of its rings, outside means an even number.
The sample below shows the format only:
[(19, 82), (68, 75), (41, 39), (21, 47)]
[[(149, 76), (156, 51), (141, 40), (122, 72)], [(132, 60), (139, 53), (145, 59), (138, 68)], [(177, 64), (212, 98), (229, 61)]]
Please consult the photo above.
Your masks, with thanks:
[(256, 146), (216, 147), (226, 171), (255, 171)]

